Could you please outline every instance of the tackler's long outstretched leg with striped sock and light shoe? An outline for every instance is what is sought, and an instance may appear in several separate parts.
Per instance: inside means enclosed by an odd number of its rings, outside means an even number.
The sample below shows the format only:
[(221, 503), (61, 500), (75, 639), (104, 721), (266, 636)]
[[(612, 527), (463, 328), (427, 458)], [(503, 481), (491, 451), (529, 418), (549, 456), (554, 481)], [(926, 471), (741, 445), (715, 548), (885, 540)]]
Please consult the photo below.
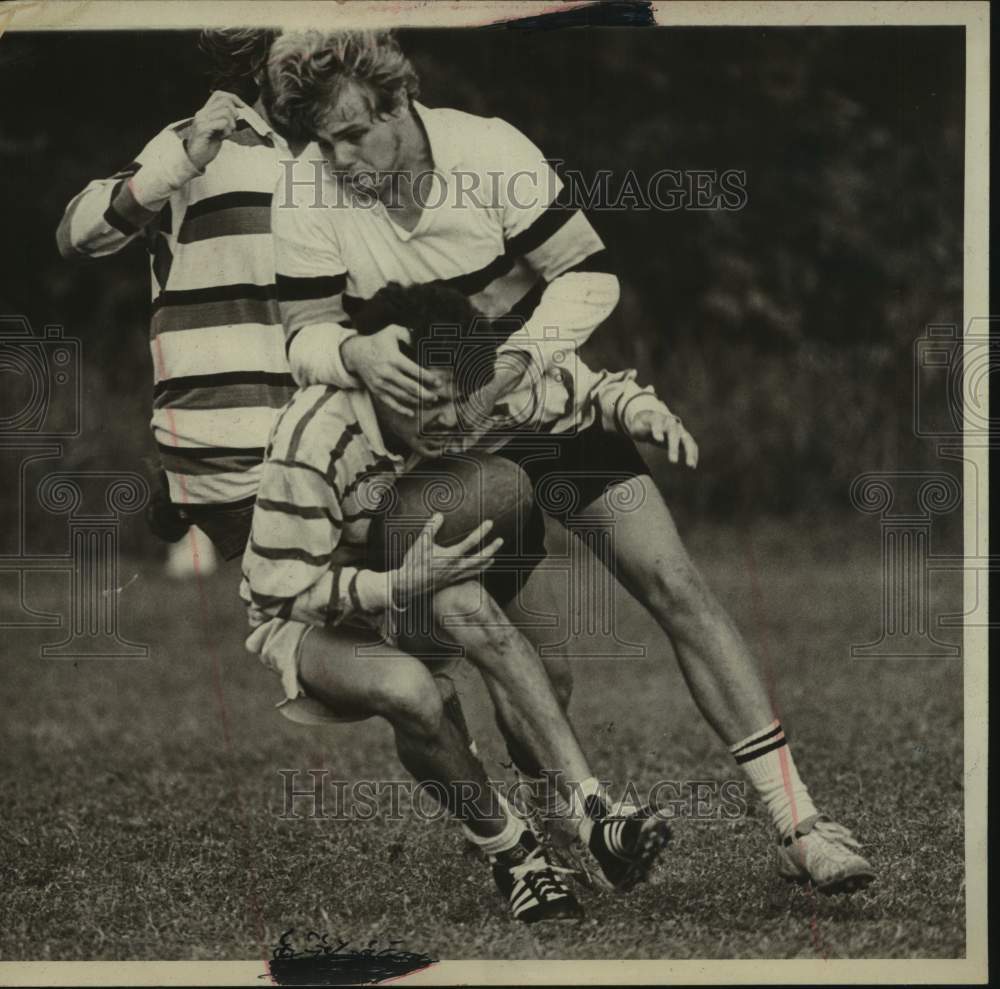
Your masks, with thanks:
[[(625, 483), (631, 492), (599, 498), (582, 514), (608, 519), (614, 511), (614, 556), (602, 562), (667, 634), (699, 710), (766, 804), (781, 835), (782, 875), (827, 892), (866, 885), (871, 866), (850, 832), (813, 804), (756, 660), (688, 555), (660, 492), (648, 475)], [(611, 507), (622, 504), (636, 507)]]

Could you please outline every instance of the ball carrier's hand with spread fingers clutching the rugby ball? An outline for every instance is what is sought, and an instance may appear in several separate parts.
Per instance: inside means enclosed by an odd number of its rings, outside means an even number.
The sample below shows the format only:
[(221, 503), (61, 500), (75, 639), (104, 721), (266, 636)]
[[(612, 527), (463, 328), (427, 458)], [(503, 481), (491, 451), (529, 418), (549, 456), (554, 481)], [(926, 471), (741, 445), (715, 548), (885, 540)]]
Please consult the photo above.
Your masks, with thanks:
[(469, 580), (492, 566), (493, 557), (503, 545), (503, 540), (494, 539), (488, 546), (478, 548), (493, 528), (491, 520), (475, 528), (454, 546), (439, 546), (434, 541), (443, 524), (443, 515), (432, 515), (403, 557), (400, 568), (393, 573), (394, 604), (405, 604), (414, 597)]

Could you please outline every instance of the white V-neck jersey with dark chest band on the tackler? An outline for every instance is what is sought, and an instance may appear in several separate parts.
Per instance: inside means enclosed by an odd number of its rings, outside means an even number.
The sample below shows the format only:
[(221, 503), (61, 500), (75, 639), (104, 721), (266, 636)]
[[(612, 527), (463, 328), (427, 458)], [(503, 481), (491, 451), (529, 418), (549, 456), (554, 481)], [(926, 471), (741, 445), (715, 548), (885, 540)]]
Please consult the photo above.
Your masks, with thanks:
[[(413, 230), (390, 219), (381, 202), (338, 184), (315, 144), (279, 181), (272, 219), (278, 301), (300, 384), (360, 387), (340, 361), (340, 344), (353, 332), (351, 317), (390, 281), (444, 281), (486, 316), (525, 323), (533, 341), (525, 349), (539, 354), (550, 334), (533, 316), (551, 317), (562, 342), (575, 345), (617, 303), (600, 237), (580, 210), (560, 202), (563, 184), (528, 138), (498, 118), (412, 107), (435, 171)], [(546, 309), (553, 283), (567, 276), (576, 281)], [(313, 373), (321, 351), (326, 366)], [(548, 357), (538, 363), (546, 366)]]

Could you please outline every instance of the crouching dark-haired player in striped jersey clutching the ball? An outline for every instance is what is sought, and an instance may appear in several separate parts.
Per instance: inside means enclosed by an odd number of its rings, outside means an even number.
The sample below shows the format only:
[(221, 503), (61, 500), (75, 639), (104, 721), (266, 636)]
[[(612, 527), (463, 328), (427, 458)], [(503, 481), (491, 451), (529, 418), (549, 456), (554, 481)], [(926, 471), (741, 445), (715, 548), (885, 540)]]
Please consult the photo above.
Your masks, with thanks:
[[(387, 647), (396, 642), (398, 615), (429, 599), (434, 624), (426, 631), (460, 648), (483, 676), (505, 731), (557, 774), (594, 874), (619, 890), (645, 878), (667, 841), (667, 824), (649, 808), (608, 805), (537, 652), (477, 582), (500, 549), (494, 539), (476, 552), (491, 522), (441, 548), (434, 543), (441, 519), (432, 518), (397, 569), (378, 572), (366, 562), (371, 519), (387, 484), (439, 455), (458, 428), (455, 400), (466, 378), (456, 366), (494, 360), (490, 342), (472, 339), (471, 328), (455, 327), (457, 335), (435, 339), (428, 351), (422, 344), (433, 326), (413, 327), (412, 356), (420, 363), (433, 353), (442, 380), (437, 400), (416, 416), (366, 391), (327, 385), (301, 388), (282, 410), (243, 559), (241, 594), (253, 626), (247, 648), (280, 677), (280, 710), (293, 720), (380, 716), (392, 725), (401, 763), (418, 781), (437, 784), (468, 840), (491, 862), (515, 918), (578, 916), (561, 876), (567, 870), (553, 865), (524, 821), (496, 799), (447, 715), (450, 681), (436, 682), (443, 678), (400, 645)], [(443, 353), (450, 354), (444, 362)]]

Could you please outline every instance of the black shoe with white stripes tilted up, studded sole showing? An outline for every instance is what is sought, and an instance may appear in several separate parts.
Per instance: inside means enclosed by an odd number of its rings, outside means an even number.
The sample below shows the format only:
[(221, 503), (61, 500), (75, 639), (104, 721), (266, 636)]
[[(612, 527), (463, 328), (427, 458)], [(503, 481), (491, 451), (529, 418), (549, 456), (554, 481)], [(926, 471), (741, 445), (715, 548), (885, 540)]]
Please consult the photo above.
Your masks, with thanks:
[(590, 836), (585, 854), (579, 860), (588, 878), (617, 892), (625, 892), (645, 880), (670, 841), (667, 822), (649, 806), (630, 805), (609, 811), (600, 797), (593, 796), (587, 798), (584, 806), (590, 820)]

